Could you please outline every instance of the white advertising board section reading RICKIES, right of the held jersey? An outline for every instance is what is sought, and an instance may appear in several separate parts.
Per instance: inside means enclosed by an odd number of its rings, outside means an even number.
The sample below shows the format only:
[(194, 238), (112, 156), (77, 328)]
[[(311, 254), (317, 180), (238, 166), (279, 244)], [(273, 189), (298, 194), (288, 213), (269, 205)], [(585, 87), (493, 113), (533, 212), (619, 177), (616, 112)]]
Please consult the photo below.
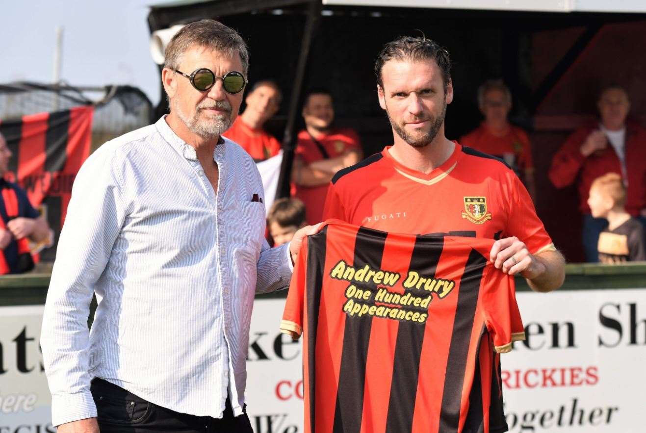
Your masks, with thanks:
[(517, 293), (501, 359), (510, 432), (644, 432), (646, 290)]

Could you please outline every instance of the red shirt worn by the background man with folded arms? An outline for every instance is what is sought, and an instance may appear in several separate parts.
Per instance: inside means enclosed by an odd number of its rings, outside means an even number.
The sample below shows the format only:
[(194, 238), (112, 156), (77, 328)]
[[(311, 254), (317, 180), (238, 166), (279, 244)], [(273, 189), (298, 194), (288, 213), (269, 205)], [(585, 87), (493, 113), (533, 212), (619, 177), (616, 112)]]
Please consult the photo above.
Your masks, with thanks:
[[(312, 140), (306, 130), (298, 132), (298, 144), (295, 151), (295, 158), (299, 158), (306, 165), (315, 161), (328, 158), (336, 158), (352, 149), (360, 149), (359, 136), (352, 129), (333, 129), (320, 138), (318, 143), (322, 145), (327, 153), (324, 155), (318, 148), (317, 143)], [(318, 186), (293, 185), (293, 194), (305, 204), (307, 224), (321, 222), (323, 204), (328, 194), (328, 184)]]

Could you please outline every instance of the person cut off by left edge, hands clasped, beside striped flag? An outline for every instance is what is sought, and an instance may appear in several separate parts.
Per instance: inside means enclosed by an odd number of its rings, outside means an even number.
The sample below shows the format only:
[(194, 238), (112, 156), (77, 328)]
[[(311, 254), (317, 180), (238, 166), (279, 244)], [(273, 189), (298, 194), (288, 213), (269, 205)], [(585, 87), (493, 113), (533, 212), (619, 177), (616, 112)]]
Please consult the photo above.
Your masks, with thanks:
[(12, 153), (0, 134), (0, 274), (34, 268), (28, 240), (51, 244), (47, 221), (34, 209), (24, 189), (4, 178)]

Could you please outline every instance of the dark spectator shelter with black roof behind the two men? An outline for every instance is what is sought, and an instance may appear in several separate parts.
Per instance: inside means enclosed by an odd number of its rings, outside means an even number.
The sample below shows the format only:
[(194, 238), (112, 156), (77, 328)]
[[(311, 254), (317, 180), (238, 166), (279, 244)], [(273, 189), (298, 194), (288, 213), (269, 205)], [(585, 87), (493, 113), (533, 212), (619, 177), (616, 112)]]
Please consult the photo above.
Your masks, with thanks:
[[(502, 78), (510, 87), (512, 123), (532, 142), (537, 212), (568, 261), (583, 261), (578, 196), (574, 185), (557, 190), (548, 180), (552, 156), (570, 132), (594, 120), (604, 85), (625, 87), (630, 115), (646, 124), (641, 0), (176, 0), (151, 6), (149, 27), (152, 33), (202, 18), (242, 34), (251, 84), (275, 79), (284, 93), (267, 125), (283, 140), (280, 195), (289, 193), (302, 96), (310, 87), (331, 90), (337, 124), (359, 132), (366, 155), (391, 143), (373, 66), (384, 43), (402, 34), (424, 34), (452, 56), (450, 139), (481, 121), (476, 93), (483, 81)], [(161, 98), (157, 114), (166, 110)]]

